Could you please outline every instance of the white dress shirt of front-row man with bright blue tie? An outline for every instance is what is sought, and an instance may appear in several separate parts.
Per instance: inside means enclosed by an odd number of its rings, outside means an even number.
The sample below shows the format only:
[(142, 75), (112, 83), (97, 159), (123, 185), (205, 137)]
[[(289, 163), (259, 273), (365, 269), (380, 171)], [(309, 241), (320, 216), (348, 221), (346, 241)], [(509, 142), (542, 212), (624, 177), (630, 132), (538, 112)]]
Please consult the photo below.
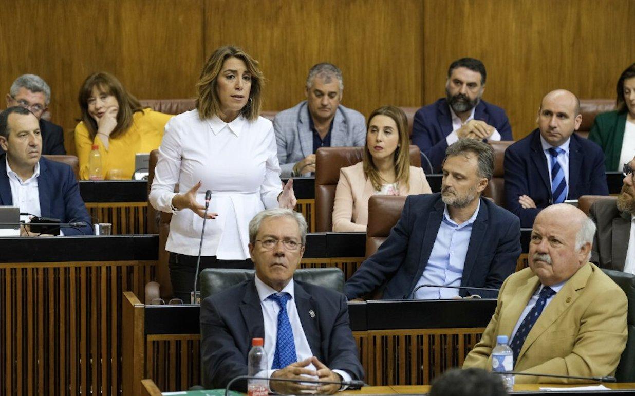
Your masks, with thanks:
[[(255, 277), (256, 290), (258, 291), (258, 298), (260, 298), (260, 308), (262, 308), (262, 319), (265, 323), (265, 352), (267, 353), (267, 369), (269, 369), (267, 376), (271, 377), (271, 374), (276, 370), (271, 369), (271, 365), (274, 362), (274, 355), (276, 353), (276, 341), (277, 341), (277, 315), (280, 312), (280, 306), (274, 300), (269, 300), (271, 294), (278, 294), (275, 289), (260, 281), (258, 277)], [(295, 295), (293, 294), (293, 279), (284, 286), (280, 293), (289, 293), (291, 298), (286, 302), (286, 313), (291, 323), (291, 331), (293, 331), (293, 343), (295, 344), (295, 355), (297, 361), (308, 359), (313, 356), (311, 347), (309, 347), (309, 341), (302, 329), (302, 322), (300, 322), (300, 316), (298, 315), (298, 308), (295, 305)], [(326, 364), (326, 362), (323, 362)], [(305, 367), (309, 370), (315, 370), (316, 367), (313, 364)], [(351, 375), (343, 370), (335, 369), (333, 373), (340, 374), (342, 381), (351, 381)], [(318, 378), (315, 378), (316, 380)], [(311, 384), (313, 385), (313, 384)]]

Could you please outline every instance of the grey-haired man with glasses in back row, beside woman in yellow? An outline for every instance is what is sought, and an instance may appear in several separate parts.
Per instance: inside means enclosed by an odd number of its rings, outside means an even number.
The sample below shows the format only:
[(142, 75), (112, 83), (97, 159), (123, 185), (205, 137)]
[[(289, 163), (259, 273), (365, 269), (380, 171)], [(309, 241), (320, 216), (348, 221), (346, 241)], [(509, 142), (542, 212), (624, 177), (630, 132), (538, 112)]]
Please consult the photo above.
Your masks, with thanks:
[[(35, 74), (23, 74), (11, 84), (6, 95), (6, 107), (20, 106), (29, 109), (39, 121), (43, 155), (64, 155), (64, 129), (42, 118), (51, 101), (51, 88)], [(0, 148), (0, 154), (4, 150)]]

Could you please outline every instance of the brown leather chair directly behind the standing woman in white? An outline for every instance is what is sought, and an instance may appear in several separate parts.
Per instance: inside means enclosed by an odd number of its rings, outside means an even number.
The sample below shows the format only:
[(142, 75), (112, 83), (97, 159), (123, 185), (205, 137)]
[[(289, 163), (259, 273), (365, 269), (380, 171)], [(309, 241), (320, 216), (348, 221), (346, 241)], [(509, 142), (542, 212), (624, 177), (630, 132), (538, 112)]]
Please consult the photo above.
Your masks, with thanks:
[[(159, 159), (159, 150), (150, 152), (149, 171), (148, 171), (148, 194), (154, 180), (154, 168)], [(157, 263), (156, 282), (149, 282), (145, 286), (145, 303), (149, 304), (154, 298), (167, 298), (172, 296), (172, 283), (170, 282), (170, 268), (168, 268), (168, 259), (170, 253), (166, 251), (165, 244), (168, 242), (168, 234), (170, 233), (171, 213), (157, 211), (148, 203), (148, 234), (159, 234), (159, 261)], [(184, 301), (188, 303), (189, 301)]]

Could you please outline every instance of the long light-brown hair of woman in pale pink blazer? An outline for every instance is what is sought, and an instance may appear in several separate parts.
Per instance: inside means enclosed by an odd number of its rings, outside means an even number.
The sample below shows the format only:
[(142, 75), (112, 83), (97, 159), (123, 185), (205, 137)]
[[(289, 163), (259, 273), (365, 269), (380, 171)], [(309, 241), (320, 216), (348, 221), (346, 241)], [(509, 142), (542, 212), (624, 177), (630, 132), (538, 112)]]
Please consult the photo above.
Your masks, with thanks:
[(370, 122), (373, 121), (375, 116), (387, 116), (397, 124), (397, 131), (399, 133), (399, 145), (394, 152), (395, 162), (395, 175), (396, 182), (399, 185), (404, 185), (406, 188), (410, 188), (410, 136), (408, 136), (408, 118), (403, 110), (394, 106), (383, 106), (379, 109), (373, 110), (368, 117), (366, 123), (366, 143), (364, 144), (364, 175), (366, 180), (370, 178), (370, 182), (375, 190), (382, 189), (382, 178), (379, 176), (379, 171), (373, 157), (368, 150), (368, 129), (370, 129)]

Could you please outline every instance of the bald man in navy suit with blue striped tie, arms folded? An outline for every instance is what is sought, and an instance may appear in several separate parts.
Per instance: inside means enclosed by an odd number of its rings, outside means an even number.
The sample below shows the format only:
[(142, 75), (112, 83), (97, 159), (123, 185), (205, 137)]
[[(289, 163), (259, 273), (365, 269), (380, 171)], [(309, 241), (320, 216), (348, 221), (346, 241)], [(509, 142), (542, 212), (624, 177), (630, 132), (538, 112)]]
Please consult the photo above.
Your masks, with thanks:
[(574, 131), (580, 100), (566, 89), (547, 93), (538, 128), (505, 150), (505, 204), (532, 227), (541, 209), (580, 195), (608, 195), (602, 149)]

